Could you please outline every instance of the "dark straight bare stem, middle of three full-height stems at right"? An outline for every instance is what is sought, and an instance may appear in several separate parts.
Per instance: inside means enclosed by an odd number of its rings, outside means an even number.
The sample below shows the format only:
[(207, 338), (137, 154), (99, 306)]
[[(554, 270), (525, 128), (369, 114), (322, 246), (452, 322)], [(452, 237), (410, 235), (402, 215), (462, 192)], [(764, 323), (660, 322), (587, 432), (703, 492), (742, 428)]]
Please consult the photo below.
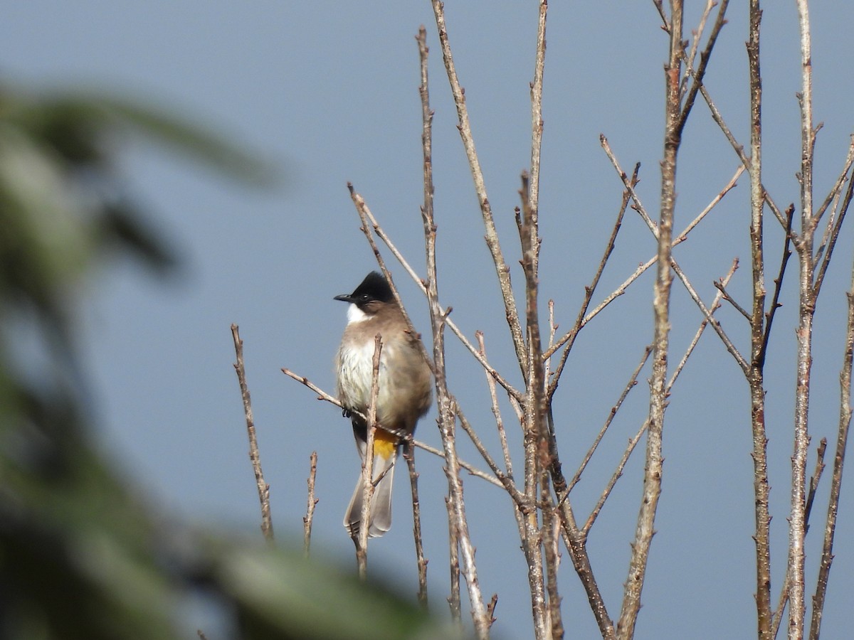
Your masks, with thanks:
[(765, 343), (765, 263), (763, 255), (762, 187), (762, 76), (759, 68), (759, 25), (762, 9), (759, 0), (750, 3), (750, 36), (747, 42), (747, 61), (750, 70), (751, 97), (751, 265), (753, 278), (753, 307), (751, 313), (751, 361), (747, 374), (751, 394), (751, 428), (753, 451), (753, 495), (756, 533), (756, 608), (757, 631), (761, 640), (770, 640), (771, 614), (771, 557), (769, 542), (769, 485), (768, 438), (765, 432), (764, 343)]

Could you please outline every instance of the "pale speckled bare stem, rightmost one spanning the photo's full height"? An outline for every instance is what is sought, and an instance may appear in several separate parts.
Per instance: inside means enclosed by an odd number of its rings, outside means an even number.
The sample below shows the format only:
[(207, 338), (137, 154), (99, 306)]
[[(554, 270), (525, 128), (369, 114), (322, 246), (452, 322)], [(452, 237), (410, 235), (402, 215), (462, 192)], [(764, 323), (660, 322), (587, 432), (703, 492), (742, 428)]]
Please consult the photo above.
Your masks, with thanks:
[(812, 255), (812, 61), (810, 54), (810, 14), (806, 0), (797, 0), (801, 44), (801, 233), (795, 248), (800, 265), (798, 301), (798, 381), (795, 388), (794, 451), (792, 456), (792, 500), (789, 515), (789, 638), (804, 637), (804, 534), (806, 458), (810, 446), (810, 367), (812, 364), (812, 322), (816, 311)]

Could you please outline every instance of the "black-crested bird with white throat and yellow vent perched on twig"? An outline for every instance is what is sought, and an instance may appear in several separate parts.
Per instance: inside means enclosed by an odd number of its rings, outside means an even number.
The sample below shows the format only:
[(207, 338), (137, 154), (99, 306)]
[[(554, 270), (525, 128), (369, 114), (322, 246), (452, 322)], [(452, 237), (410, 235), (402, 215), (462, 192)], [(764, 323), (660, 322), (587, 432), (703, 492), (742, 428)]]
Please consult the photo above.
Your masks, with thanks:
[[(391, 487), (398, 450), (432, 404), (430, 365), (419, 344), (419, 336), (409, 329), (383, 274), (371, 271), (352, 294), (336, 295), (334, 300), (349, 303), (347, 326), (335, 358), (336, 390), (343, 415), (350, 417), (353, 424), (356, 447), (363, 462), (367, 424), (362, 416), (367, 416), (371, 402), (377, 334), (382, 340), (373, 445), (373, 481), (379, 481), (367, 523), (368, 537), (378, 538), (391, 527)], [(360, 474), (344, 515), (344, 527), (357, 545), (363, 524), (364, 492)]]

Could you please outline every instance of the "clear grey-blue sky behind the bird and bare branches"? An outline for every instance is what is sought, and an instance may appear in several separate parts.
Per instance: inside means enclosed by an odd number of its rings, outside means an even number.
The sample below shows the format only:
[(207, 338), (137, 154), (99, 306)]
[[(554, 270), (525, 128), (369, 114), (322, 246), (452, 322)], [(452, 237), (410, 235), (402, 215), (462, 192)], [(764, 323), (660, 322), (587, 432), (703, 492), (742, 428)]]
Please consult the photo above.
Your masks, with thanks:
[[(700, 3), (689, 3), (686, 33)], [(734, 3), (711, 61), (707, 86), (728, 124), (747, 143), (746, 9)], [(851, 111), (851, 20), (854, 8), (814, 3), (813, 63), (816, 200), (833, 182), (848, 144)], [(477, 149), (507, 261), (518, 270), (512, 210), (519, 172), (529, 163), (529, 89), (536, 5), (447, 3), (447, 25), (471, 114)], [(4, 11), (0, 68), (8, 79), (42, 86), (108, 89), (173, 105), (202, 124), (282, 166), (284, 188), (256, 192), (191, 169), (159, 149), (134, 145), (122, 166), (132, 195), (172, 239), (184, 268), (156, 282), (131, 263), (111, 266), (92, 284), (80, 317), (85, 361), (97, 403), (97, 428), (116, 465), (145, 486), (167, 514), (260, 537), (257, 497), (231, 363), (229, 325), (245, 342), (261, 459), (271, 485), (278, 537), (301, 535), (311, 451), (319, 454), (313, 549), (352, 563), (341, 517), (359, 473), (348, 422), (286, 378), (289, 367), (331, 390), (332, 356), (351, 291), (374, 268), (346, 183), (424, 272), (421, 220), (420, 106), (414, 35), (428, 28), (440, 291), (453, 318), (473, 337), (483, 329), (490, 359), (513, 381), (518, 367), (506, 335), (493, 268), (471, 177), (456, 131), (430, 3), (15, 3)], [(764, 182), (781, 206), (798, 201), (799, 51), (794, 3), (768, 3), (763, 16)], [(662, 66), (667, 40), (652, 3), (552, 3), (547, 32), (545, 143), (542, 155), (541, 300), (556, 300), (570, 327), (611, 230), (621, 185), (599, 144), (604, 133), (631, 171), (642, 162), (639, 193), (658, 210), (662, 148)], [(721, 189), (737, 159), (705, 105), (687, 125), (678, 169), (676, 227)], [(706, 301), (713, 279), (735, 256), (743, 262), (731, 290), (749, 304), (746, 178), (676, 258)], [(654, 251), (634, 212), (595, 301)], [(769, 217), (770, 282), (781, 232)], [(851, 272), (851, 231), (839, 241), (816, 317), (812, 429), (835, 441), (838, 373)], [(388, 257), (389, 265), (394, 260)], [(427, 332), (423, 300), (396, 268), (407, 308)], [(564, 469), (574, 471), (651, 340), (652, 274), (646, 274), (582, 332), (555, 405)], [(793, 412), (795, 260), (767, 364), (768, 429), (776, 597), (783, 578)], [(675, 363), (700, 315), (674, 285)], [(721, 311), (730, 335), (746, 347), (747, 328)], [(495, 454), (494, 424), (479, 367), (449, 338), (449, 381), (467, 416)], [(592, 508), (625, 441), (646, 415), (646, 376), (573, 492), (578, 513)], [(752, 637), (755, 633), (752, 464), (746, 384), (720, 340), (705, 335), (677, 383), (665, 421), (664, 492), (644, 591), (639, 638)], [(507, 412), (506, 418), (509, 420)], [(418, 438), (438, 445), (434, 414)], [(513, 434), (518, 442), (518, 434)], [(813, 448), (814, 450), (814, 448)], [(462, 456), (477, 462), (471, 446)], [(828, 451), (828, 463), (832, 456)], [(810, 454), (810, 469), (814, 454)], [(643, 452), (626, 468), (591, 532), (589, 550), (605, 603), (619, 612), (640, 497)], [(479, 464), (483, 467), (483, 463)], [(445, 614), (447, 486), (438, 459), (419, 456), (426, 555), (433, 608)], [(816, 499), (807, 550), (808, 591), (826, 509), (830, 469)], [(499, 594), (496, 635), (529, 637), (524, 556), (509, 498), (464, 477), (481, 585)], [(837, 555), (823, 631), (850, 628), (854, 592), (854, 499), (843, 486)], [(395, 527), (371, 545), (371, 566), (417, 590), (403, 474), (395, 491)], [(375, 568), (374, 570), (377, 570)], [(560, 586), (569, 635), (596, 637), (592, 614), (564, 553)]]

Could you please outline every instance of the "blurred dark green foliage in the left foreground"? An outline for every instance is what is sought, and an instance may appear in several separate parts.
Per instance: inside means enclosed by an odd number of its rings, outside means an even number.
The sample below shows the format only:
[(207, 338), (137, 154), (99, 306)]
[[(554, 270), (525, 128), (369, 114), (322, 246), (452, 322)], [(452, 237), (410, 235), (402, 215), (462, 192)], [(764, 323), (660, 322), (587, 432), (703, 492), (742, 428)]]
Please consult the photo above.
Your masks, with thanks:
[[(236, 637), (450, 637), (411, 600), (260, 535), (165, 526), (91, 445), (73, 347), (79, 285), (115, 249), (158, 271), (175, 262), (115, 196), (133, 136), (244, 182), (271, 176), (168, 113), (0, 85), (0, 638), (186, 637), (190, 594), (219, 607), (220, 633)], [(35, 376), (15, 345), (22, 325), (46, 363)]]

